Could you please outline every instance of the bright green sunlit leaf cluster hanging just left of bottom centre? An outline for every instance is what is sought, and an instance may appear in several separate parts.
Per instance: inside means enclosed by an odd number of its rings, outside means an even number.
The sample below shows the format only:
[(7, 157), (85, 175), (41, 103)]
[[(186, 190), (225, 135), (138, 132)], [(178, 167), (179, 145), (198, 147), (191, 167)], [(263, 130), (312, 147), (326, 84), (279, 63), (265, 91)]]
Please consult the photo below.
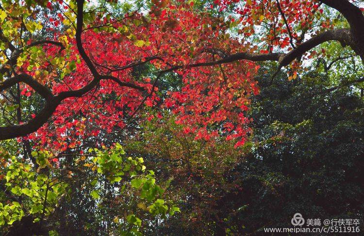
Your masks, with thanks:
[[(126, 175), (129, 175), (131, 187), (138, 191), (140, 198), (139, 208), (148, 211), (153, 216), (158, 215), (163, 218), (168, 213), (173, 215), (175, 212), (180, 212), (180, 209), (172, 201), (158, 198), (163, 195), (164, 190), (156, 184), (154, 172), (146, 171), (142, 157), (127, 157), (119, 143), (116, 143), (113, 148), (103, 146), (101, 150), (90, 148), (88, 151), (94, 155), (92, 158), (93, 164), (86, 163), (85, 166), (105, 176), (110, 183), (121, 182), (123, 178), (126, 178)], [(94, 199), (100, 198), (99, 191), (97, 190), (100, 186), (98, 186), (97, 181), (98, 179), (95, 178), (91, 183), (96, 188), (90, 193)], [(121, 187), (121, 191), (124, 190), (125, 185)], [(127, 233), (124, 232), (123, 234), (130, 235), (132, 233), (133, 235), (140, 235), (139, 230), (142, 220), (137, 218), (135, 214), (130, 214), (126, 217), (126, 222), (129, 223), (129, 229)]]

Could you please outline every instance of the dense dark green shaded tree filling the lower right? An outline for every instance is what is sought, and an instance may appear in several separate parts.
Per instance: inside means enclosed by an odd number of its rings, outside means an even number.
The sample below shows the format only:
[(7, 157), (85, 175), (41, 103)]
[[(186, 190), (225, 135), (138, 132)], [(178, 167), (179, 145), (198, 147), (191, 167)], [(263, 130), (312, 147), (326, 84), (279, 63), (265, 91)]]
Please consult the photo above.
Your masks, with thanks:
[[(184, 214), (150, 235), (260, 235), (264, 227), (291, 227), (296, 212), (306, 219), (363, 219), (363, 99), (348, 87), (329, 92), (328, 78), (315, 73), (294, 81), (280, 76), (272, 85), (268, 78), (259, 79), (261, 93), (253, 97), (246, 155), (215, 175), (217, 188), (211, 173), (190, 180), (177, 196), (185, 199)], [(183, 187), (182, 180), (173, 188)], [(196, 197), (205, 189), (214, 195), (212, 206)], [(204, 214), (189, 227), (181, 218), (196, 207)]]

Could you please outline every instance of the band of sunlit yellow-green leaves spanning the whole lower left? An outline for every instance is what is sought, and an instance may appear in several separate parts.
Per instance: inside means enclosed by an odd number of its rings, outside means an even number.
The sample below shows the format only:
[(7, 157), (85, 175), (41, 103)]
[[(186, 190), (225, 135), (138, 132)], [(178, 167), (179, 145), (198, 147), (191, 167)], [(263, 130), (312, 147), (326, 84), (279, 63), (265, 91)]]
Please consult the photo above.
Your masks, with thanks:
[[(89, 193), (83, 195), (83, 199), (89, 196), (90, 201), (95, 203), (95, 212), (92, 214), (105, 210), (104, 201), (109, 201), (103, 190), (105, 186), (114, 185), (113, 189), (120, 194), (133, 192), (133, 201), (136, 201), (140, 211), (125, 211), (124, 217), (116, 213), (113, 224), (117, 226), (118, 234), (142, 235), (143, 218), (137, 216), (138, 214), (143, 216), (144, 213), (148, 213), (151, 218), (166, 218), (180, 212), (171, 200), (163, 199), (164, 190), (156, 184), (154, 172), (146, 170), (144, 159), (128, 157), (119, 143), (112, 148), (90, 148), (90, 158), (82, 156), (77, 159), (78, 163), (84, 162), (81, 165), (84, 170), (79, 169), (81, 172), (75, 173), (70, 172), (69, 168), (54, 169), (50, 161), (54, 161), (53, 154), (47, 150), (31, 152), (39, 165), (36, 171), (31, 164), (24, 164), (15, 156), (6, 152), (1, 155), (3, 161), (8, 160), (4, 162), (8, 164), (3, 165), (7, 170), (4, 175), (5, 187), (14, 199), (19, 199), (0, 205), (1, 225), (11, 225), (15, 221), (21, 221), (24, 216), (31, 216), (33, 222), (38, 222), (52, 217), (52, 214), (59, 214), (57, 207), (60, 204), (64, 207), (67, 205), (69, 194), (77, 193), (78, 189), (75, 189), (75, 186), (82, 184), (84, 179), (88, 184), (84, 183), (83, 188), (86, 187)], [(73, 199), (70, 198), (69, 201)]]

